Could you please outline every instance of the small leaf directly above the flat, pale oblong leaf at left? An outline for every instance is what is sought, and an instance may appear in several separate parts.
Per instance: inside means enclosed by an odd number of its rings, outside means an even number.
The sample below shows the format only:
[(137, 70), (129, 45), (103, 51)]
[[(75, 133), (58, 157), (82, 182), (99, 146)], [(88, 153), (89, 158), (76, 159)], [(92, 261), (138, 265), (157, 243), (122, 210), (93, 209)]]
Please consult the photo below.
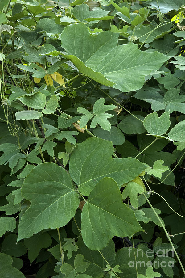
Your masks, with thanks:
[(35, 94), (25, 95), (19, 100), (24, 104), (34, 109), (43, 109), (46, 105), (46, 96), (40, 92)]

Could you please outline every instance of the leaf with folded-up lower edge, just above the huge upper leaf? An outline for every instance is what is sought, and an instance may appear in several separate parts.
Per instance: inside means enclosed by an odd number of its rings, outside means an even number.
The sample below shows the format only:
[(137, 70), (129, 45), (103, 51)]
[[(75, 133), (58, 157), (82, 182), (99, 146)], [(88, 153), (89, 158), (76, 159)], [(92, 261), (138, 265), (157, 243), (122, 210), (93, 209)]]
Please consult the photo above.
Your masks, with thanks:
[(113, 16), (106, 16), (109, 13), (108, 11), (99, 8), (93, 11), (89, 11), (89, 6), (87, 4), (75, 6), (72, 10), (72, 13), (80, 22), (114, 19)]

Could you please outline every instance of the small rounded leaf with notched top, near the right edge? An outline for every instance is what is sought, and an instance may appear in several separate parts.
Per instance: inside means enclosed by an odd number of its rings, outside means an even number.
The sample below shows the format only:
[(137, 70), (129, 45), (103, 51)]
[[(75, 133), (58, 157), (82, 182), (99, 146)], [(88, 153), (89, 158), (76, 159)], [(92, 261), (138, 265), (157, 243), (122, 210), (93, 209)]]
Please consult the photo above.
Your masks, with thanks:
[(143, 125), (152, 135), (162, 135), (170, 127), (170, 115), (169, 112), (164, 112), (160, 117), (158, 117), (157, 112), (148, 114), (144, 121)]

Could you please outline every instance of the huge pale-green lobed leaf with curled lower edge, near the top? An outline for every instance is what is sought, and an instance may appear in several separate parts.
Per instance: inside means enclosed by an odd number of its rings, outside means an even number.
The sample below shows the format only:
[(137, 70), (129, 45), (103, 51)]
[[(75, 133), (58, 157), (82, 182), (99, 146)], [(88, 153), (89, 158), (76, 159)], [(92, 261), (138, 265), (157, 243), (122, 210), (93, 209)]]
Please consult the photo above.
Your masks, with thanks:
[(60, 35), (61, 45), (79, 69), (95, 81), (121, 91), (140, 89), (145, 76), (158, 70), (168, 57), (142, 52), (136, 44), (117, 45), (118, 35), (106, 31), (91, 35), (85, 24), (72, 24)]

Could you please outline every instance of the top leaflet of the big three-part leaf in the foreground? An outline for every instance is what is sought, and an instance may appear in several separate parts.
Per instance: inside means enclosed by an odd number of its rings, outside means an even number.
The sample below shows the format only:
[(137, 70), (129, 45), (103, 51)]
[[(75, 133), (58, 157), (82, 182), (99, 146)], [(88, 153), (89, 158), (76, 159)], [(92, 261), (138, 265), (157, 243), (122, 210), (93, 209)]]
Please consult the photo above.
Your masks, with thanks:
[(112, 142), (100, 138), (88, 138), (73, 150), (69, 172), (83, 195), (88, 196), (104, 177), (113, 178), (120, 188), (147, 168), (138, 159), (112, 158), (112, 154)]

